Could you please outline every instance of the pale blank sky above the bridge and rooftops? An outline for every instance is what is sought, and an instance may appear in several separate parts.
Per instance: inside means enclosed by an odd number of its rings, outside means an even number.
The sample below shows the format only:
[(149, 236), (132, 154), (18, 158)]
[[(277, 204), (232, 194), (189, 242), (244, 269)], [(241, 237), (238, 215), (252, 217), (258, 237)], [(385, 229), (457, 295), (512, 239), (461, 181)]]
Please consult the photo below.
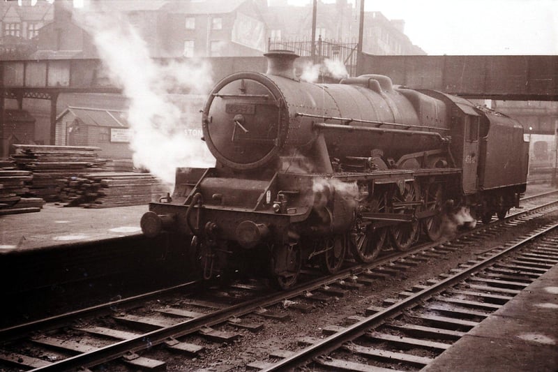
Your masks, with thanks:
[[(405, 34), (430, 55), (558, 54), (558, 0), (365, 0), (364, 4), (366, 11), (405, 20)], [(360, 7), (358, 1), (356, 6)]]

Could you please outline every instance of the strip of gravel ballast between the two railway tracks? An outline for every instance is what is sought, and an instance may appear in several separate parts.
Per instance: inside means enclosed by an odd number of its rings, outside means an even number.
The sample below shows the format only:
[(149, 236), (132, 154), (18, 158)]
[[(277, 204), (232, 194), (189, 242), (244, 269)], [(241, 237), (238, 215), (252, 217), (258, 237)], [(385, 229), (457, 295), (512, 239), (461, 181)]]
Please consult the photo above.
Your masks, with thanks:
[[(545, 218), (545, 221), (556, 221), (556, 218), (558, 218), (558, 214)], [(310, 313), (290, 311), (291, 319), (289, 321), (266, 321), (264, 330), (257, 334), (244, 332), (238, 341), (230, 345), (216, 346), (206, 343), (207, 348), (216, 350), (216, 352), (209, 353), (208, 357), (201, 356), (189, 362), (185, 362), (179, 357), (169, 359), (166, 352), (164, 352), (166, 356), (160, 355), (160, 357), (167, 360), (167, 371), (211, 368), (214, 364), (236, 365), (237, 367), (232, 371), (244, 371), (246, 364), (256, 360), (265, 360), (272, 350), (279, 348), (296, 350), (296, 340), (303, 336), (323, 338), (322, 328), (324, 326), (344, 325), (345, 319), (349, 316), (363, 316), (365, 308), (382, 306), (384, 299), (397, 298), (399, 292), (409, 290), (417, 284), (425, 284), (428, 279), (448, 273), (450, 269), (458, 267), (460, 263), (474, 260), (478, 254), (510, 241), (526, 231), (531, 231), (533, 223), (527, 225), (530, 226), (510, 230), (504, 237), (469, 246), (469, 248), (448, 254), (441, 259), (430, 259), (423, 265), (409, 269), (405, 274), (388, 280), (378, 280), (363, 290), (350, 291), (345, 297), (334, 298), (328, 303), (315, 304)], [(227, 327), (219, 329), (234, 330)]]

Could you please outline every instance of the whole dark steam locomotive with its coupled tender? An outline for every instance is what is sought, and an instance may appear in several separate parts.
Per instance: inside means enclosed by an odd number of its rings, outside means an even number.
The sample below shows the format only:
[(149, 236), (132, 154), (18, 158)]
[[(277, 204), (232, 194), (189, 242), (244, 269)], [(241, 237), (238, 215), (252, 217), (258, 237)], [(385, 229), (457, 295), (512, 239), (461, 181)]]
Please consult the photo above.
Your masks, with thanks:
[(296, 54), (265, 55), (267, 73), (229, 75), (206, 101), (216, 166), (177, 169), (172, 197), (142, 217), (147, 237), (183, 237), (204, 278), (243, 267), (289, 288), (304, 262), (335, 272), (349, 250), (371, 262), (421, 233), (437, 240), (451, 209), (490, 221), (518, 206), (518, 121), (383, 75), (303, 82)]

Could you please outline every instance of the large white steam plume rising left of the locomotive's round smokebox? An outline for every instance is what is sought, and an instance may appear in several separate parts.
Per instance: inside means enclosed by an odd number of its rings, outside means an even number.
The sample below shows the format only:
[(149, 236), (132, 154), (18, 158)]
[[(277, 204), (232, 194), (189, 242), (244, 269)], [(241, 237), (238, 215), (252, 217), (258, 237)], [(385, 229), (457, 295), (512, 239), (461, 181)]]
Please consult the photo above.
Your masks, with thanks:
[[(179, 90), (205, 94), (212, 84), (209, 66), (154, 61), (137, 30), (114, 13), (77, 16), (83, 17), (82, 24), (93, 36), (111, 79), (129, 98), (130, 148), (135, 165), (168, 184), (174, 184), (176, 167), (214, 165), (214, 158), (200, 140), (201, 105), (176, 105), (169, 96)], [(187, 128), (188, 122), (197, 126)]]

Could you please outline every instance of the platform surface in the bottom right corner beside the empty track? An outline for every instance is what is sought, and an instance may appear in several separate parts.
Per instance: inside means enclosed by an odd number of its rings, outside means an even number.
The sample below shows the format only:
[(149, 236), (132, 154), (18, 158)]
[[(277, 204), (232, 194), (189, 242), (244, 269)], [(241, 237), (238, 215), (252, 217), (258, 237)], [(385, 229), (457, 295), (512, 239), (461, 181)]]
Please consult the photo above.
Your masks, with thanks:
[(558, 265), (422, 371), (558, 371)]

